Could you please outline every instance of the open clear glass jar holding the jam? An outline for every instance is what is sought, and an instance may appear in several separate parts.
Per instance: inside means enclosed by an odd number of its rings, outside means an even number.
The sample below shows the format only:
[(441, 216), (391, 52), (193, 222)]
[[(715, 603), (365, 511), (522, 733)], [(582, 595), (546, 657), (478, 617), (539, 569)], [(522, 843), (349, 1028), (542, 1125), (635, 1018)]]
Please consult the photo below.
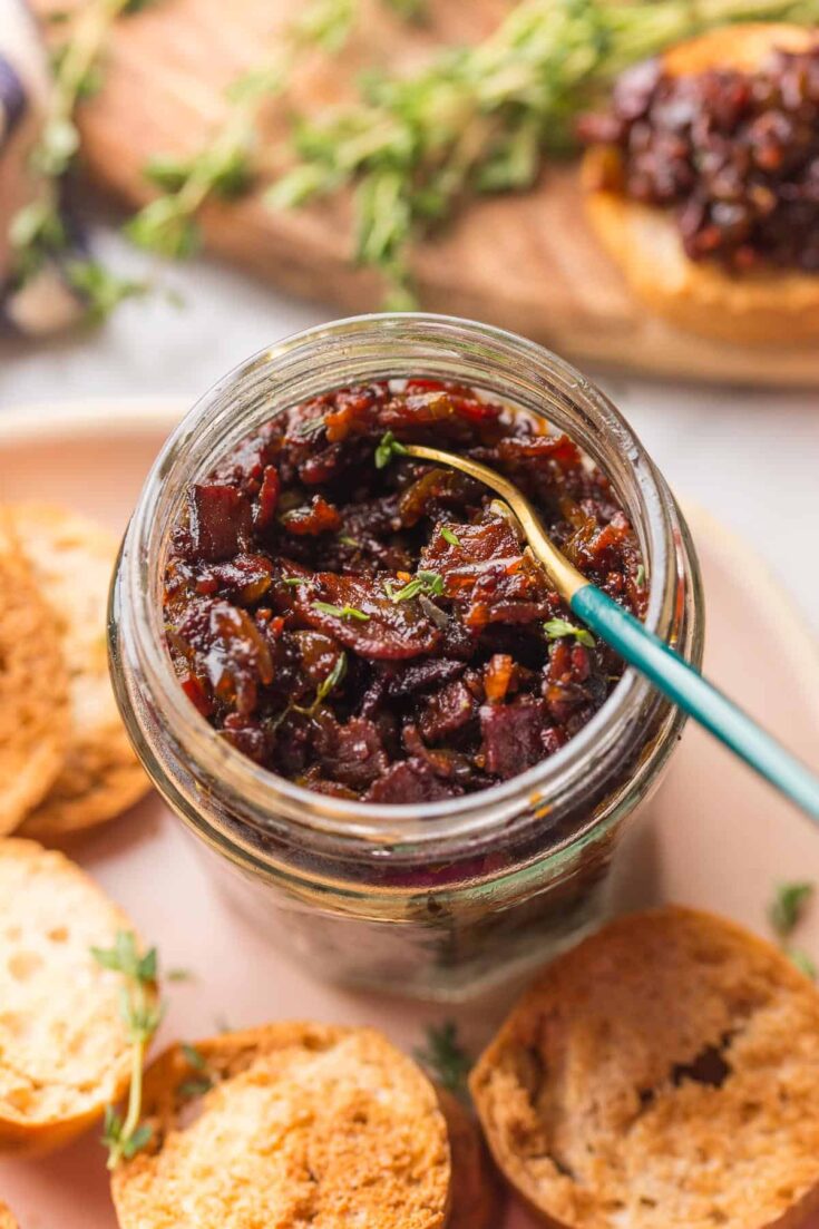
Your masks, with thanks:
[(168, 533), (191, 483), (298, 402), (406, 376), (472, 385), (574, 439), (611, 479), (639, 538), (648, 627), (700, 664), (703, 606), (689, 532), (614, 406), (531, 342), (423, 315), (309, 329), (194, 406), (149, 474), (123, 543), (111, 661), (145, 768), (271, 943), (326, 980), (454, 1002), (599, 923), (619, 838), (684, 717), (627, 670), (576, 737), (519, 777), (423, 809), (363, 804), (304, 789), (223, 740), (178, 686), (162, 626)]

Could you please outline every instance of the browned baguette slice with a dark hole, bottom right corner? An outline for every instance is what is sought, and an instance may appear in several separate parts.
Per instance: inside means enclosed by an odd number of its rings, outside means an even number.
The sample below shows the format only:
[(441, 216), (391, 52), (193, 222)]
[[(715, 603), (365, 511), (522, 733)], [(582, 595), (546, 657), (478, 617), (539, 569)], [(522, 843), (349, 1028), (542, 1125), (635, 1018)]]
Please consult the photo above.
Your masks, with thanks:
[(819, 993), (707, 913), (626, 917), (560, 957), (470, 1084), (548, 1225), (801, 1229), (819, 1209)]

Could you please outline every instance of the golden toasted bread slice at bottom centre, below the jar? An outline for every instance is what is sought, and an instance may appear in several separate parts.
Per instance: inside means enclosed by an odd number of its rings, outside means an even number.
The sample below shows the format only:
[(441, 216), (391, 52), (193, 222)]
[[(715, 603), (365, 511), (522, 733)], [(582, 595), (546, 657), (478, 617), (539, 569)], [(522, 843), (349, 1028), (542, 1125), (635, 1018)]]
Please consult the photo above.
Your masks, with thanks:
[(443, 1229), (435, 1089), (379, 1032), (272, 1024), (196, 1052), (146, 1072), (152, 1138), (112, 1180), (122, 1229), (178, 1229), (182, 1208), (191, 1227)]

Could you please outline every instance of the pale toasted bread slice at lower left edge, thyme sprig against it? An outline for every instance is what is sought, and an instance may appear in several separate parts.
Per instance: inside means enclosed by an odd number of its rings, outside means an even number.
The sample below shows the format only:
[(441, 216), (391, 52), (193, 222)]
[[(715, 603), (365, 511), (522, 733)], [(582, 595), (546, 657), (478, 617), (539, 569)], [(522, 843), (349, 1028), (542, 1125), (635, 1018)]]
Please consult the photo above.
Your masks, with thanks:
[(57, 1148), (123, 1093), (122, 980), (91, 948), (130, 929), (61, 853), (0, 841), (0, 1150)]

